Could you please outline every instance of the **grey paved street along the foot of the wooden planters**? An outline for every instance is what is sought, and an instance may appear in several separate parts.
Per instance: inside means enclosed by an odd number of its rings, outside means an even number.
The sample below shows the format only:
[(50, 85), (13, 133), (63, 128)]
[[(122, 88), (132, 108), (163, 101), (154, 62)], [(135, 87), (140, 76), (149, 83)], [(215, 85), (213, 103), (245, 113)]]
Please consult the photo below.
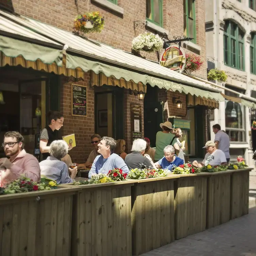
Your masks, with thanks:
[(256, 172), (250, 174), (249, 214), (141, 256), (256, 256)]

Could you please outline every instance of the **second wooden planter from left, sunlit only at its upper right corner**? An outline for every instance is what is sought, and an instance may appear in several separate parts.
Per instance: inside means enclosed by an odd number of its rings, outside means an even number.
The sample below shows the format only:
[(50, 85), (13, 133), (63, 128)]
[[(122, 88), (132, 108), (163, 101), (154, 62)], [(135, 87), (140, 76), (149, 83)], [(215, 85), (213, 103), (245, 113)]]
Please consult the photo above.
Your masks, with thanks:
[(131, 186), (118, 181), (79, 187), (73, 200), (72, 256), (131, 256)]

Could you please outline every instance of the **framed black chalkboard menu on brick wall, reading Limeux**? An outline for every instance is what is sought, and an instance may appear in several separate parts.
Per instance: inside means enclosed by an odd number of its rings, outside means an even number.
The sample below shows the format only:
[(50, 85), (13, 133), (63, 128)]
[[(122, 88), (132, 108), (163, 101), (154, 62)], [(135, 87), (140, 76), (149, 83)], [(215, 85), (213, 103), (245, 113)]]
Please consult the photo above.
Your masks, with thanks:
[(87, 116), (87, 87), (72, 84), (71, 87), (72, 115)]

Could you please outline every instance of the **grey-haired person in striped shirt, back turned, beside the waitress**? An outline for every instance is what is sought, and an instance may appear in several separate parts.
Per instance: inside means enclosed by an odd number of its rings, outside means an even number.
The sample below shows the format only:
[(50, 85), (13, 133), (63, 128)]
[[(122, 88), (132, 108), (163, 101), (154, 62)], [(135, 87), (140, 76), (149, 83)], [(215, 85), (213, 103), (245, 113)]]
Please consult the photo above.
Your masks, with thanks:
[[(41, 175), (48, 179), (53, 179), (57, 184), (72, 183), (77, 174), (77, 166), (74, 169), (67, 167), (61, 159), (67, 155), (68, 145), (63, 140), (53, 141), (50, 144), (50, 156), (46, 160), (39, 163)], [(71, 173), (69, 177), (68, 170)]]

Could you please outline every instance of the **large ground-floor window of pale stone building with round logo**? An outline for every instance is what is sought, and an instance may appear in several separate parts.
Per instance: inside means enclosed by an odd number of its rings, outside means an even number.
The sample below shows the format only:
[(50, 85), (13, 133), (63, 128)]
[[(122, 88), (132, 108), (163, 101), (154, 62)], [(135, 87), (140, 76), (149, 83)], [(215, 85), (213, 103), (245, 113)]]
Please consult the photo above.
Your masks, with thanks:
[(245, 142), (245, 108), (237, 102), (225, 101), (226, 133), (232, 142)]

